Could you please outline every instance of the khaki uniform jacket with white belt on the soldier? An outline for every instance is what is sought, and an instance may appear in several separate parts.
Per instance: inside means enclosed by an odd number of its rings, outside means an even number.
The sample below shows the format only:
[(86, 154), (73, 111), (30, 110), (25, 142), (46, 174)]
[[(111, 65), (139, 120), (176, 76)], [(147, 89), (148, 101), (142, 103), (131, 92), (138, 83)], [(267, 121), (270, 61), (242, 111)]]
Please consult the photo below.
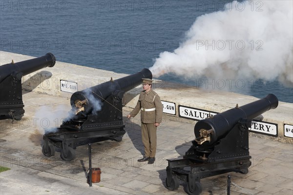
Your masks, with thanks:
[(142, 108), (156, 108), (154, 111), (141, 111), (141, 120), (143, 123), (162, 122), (163, 105), (159, 95), (152, 89), (149, 92), (144, 90), (140, 93), (137, 104), (129, 115), (135, 117)]

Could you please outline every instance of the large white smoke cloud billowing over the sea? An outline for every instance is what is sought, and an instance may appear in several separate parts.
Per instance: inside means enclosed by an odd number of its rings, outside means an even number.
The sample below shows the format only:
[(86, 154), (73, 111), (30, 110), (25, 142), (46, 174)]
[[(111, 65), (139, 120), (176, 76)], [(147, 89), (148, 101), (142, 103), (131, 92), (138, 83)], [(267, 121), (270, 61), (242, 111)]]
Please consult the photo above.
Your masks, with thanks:
[(198, 17), (173, 53), (150, 68), (154, 77), (260, 78), (293, 84), (293, 1), (233, 1)]

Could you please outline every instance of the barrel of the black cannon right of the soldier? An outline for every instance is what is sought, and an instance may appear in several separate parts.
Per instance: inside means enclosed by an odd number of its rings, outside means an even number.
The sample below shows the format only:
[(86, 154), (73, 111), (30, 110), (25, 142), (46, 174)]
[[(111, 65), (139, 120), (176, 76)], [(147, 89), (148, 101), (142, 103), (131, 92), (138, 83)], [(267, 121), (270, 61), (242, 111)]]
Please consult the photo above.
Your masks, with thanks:
[[(209, 137), (208, 141), (200, 142), (203, 145), (212, 145), (226, 134), (240, 121), (253, 119), (264, 112), (275, 109), (278, 106), (278, 98), (273, 94), (253, 101), (243, 106), (236, 106), (228, 111), (198, 121), (194, 126), (195, 137)], [(250, 127), (250, 120), (247, 126)]]

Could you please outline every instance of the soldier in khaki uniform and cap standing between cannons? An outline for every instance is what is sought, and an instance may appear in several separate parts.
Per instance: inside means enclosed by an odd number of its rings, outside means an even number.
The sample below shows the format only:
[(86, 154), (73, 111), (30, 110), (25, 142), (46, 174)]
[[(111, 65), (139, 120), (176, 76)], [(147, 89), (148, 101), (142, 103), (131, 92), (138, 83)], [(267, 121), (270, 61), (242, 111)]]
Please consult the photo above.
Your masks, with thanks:
[(141, 110), (142, 141), (145, 146), (145, 156), (138, 159), (139, 162), (148, 161), (148, 164), (155, 162), (157, 149), (157, 127), (162, 122), (163, 105), (160, 97), (151, 89), (152, 79), (143, 78), (143, 88), (139, 95), (138, 102), (128, 118), (135, 117)]

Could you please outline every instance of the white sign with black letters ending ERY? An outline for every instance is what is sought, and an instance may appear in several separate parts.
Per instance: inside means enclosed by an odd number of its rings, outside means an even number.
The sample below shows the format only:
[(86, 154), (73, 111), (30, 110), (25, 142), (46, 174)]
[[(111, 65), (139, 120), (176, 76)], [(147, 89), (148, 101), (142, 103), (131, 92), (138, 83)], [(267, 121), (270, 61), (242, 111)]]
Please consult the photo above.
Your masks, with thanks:
[(277, 137), (278, 125), (274, 123), (269, 123), (269, 122), (251, 120), (250, 131)]

